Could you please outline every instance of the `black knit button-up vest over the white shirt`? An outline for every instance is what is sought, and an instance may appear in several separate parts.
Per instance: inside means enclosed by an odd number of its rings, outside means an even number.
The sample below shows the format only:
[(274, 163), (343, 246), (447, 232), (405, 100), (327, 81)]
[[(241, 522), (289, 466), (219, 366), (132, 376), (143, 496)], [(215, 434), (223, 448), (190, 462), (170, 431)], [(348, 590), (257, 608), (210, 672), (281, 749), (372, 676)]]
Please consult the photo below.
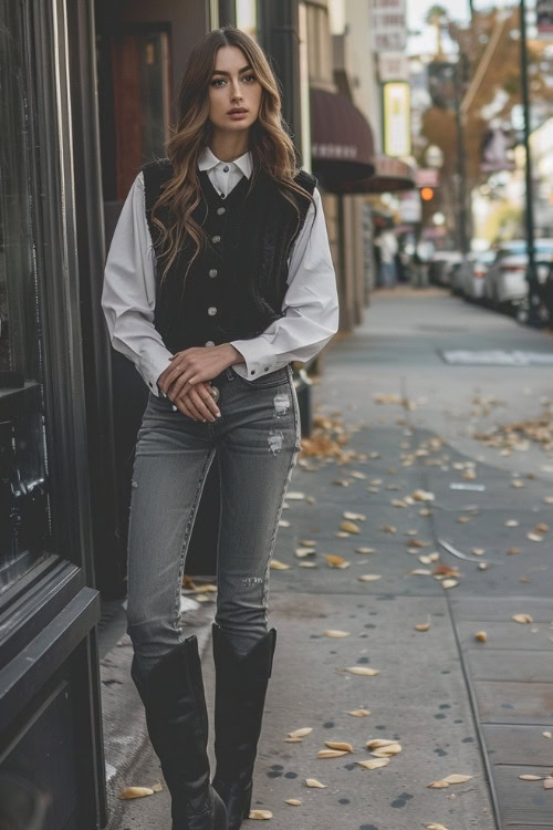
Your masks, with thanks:
[[(196, 257), (192, 240), (185, 245), (167, 274), (163, 274), (159, 229), (152, 209), (160, 188), (173, 174), (169, 159), (143, 167), (145, 209), (156, 253), (156, 308), (154, 324), (167, 349), (175, 353), (190, 346), (218, 345), (261, 334), (280, 317), (288, 289), (288, 257), (310, 206), (294, 195), (300, 212), (262, 170), (250, 193), (250, 179), (222, 198), (207, 173), (199, 172), (201, 201), (194, 218), (209, 243)], [(313, 195), (316, 179), (304, 170), (296, 184)], [(168, 211), (156, 210), (167, 226)], [(186, 280), (185, 280), (186, 274)]]

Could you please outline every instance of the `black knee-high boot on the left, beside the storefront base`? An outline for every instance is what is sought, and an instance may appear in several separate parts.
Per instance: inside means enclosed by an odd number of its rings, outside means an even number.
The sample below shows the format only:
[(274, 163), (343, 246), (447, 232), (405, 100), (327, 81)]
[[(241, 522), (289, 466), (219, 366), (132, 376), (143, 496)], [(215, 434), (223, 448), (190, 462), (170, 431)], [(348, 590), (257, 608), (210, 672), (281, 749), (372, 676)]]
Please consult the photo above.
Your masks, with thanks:
[(227, 830), (227, 810), (209, 784), (208, 717), (198, 641), (168, 652), (145, 679), (131, 674), (171, 796), (173, 830)]

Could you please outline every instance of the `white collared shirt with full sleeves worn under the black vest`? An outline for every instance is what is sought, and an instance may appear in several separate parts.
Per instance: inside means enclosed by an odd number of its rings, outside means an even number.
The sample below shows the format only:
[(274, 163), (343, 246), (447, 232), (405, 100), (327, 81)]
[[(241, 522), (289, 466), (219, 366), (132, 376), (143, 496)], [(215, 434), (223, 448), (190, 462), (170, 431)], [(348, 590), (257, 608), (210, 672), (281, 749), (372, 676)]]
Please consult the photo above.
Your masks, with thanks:
[[(220, 162), (206, 147), (198, 167), (207, 170), (213, 187), (227, 197), (242, 176), (252, 170), (251, 154)], [(233, 369), (248, 380), (274, 372), (291, 361), (305, 362), (323, 349), (338, 328), (338, 299), (321, 194), (313, 205), (289, 258), (284, 317), (257, 338), (233, 340), (244, 363)], [(154, 326), (156, 255), (145, 211), (144, 176), (135, 178), (113, 235), (104, 272), (102, 308), (112, 345), (135, 364), (145, 383), (158, 395), (157, 380), (170, 362), (161, 335)]]

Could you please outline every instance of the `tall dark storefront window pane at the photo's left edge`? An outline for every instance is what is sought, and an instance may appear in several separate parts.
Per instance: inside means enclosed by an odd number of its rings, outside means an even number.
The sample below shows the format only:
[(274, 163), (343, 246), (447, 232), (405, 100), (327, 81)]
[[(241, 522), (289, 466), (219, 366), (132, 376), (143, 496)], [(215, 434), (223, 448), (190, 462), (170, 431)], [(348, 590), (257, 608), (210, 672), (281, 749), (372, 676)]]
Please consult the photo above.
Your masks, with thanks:
[(23, 2), (0, 0), (0, 592), (50, 526)]

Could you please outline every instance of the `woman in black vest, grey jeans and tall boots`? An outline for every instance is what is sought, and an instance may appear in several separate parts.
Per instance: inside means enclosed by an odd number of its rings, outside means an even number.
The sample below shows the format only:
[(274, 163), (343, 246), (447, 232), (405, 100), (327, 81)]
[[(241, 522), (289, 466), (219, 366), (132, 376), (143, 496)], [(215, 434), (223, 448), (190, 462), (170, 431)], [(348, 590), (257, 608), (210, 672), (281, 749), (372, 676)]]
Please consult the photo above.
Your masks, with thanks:
[[(337, 330), (334, 271), (313, 176), (295, 167), (267, 58), (226, 27), (192, 50), (167, 159), (136, 177), (102, 304), (115, 349), (149, 387), (136, 444), (128, 542), (132, 676), (171, 795), (174, 830), (238, 830), (271, 674), (269, 563), (300, 449), (290, 362)], [(221, 515), (216, 758), (180, 587), (207, 473)]]

